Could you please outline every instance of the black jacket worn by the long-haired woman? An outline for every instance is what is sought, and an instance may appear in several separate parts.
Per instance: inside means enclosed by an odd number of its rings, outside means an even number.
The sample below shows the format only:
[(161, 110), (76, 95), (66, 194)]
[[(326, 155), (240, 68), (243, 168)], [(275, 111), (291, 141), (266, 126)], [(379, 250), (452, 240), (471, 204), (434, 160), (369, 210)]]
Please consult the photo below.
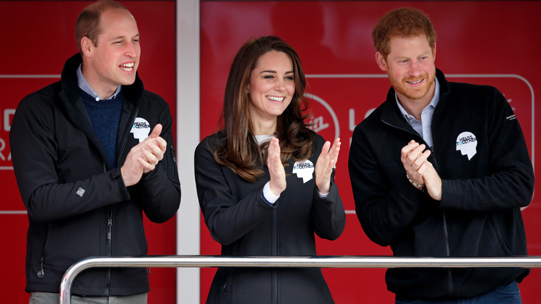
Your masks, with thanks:
[[(195, 153), (199, 204), (212, 237), (222, 245), (222, 255), (316, 255), (314, 233), (336, 239), (345, 226), (345, 212), (334, 181), (328, 196), (320, 198), (314, 165), (325, 143), (316, 135), (307, 162), (285, 167), (287, 187), (270, 205), (261, 196), (265, 176), (249, 183), (214, 160), (217, 133), (206, 137)], [(307, 178), (302, 178), (302, 176)], [(334, 174), (333, 174), (334, 177)], [(332, 301), (318, 268), (247, 269), (219, 268), (207, 303), (275, 304)]]

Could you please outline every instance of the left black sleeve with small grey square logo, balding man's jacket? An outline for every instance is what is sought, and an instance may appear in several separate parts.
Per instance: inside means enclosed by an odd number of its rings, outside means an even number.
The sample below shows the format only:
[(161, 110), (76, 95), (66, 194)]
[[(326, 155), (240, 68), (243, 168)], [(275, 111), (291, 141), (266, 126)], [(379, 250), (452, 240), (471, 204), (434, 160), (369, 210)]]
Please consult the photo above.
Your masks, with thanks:
[(36, 222), (55, 221), (128, 199), (119, 169), (60, 183), (52, 104), (40, 94), (27, 96), (10, 129), (15, 178), (28, 216)]

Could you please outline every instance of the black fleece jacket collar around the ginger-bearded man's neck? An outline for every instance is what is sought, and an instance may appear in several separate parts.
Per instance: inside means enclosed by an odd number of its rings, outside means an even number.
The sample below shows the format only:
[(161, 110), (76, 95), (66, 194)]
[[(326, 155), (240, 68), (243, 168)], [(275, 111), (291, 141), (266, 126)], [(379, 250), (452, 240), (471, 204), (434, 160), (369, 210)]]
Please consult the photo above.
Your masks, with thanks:
[[(440, 100), (438, 101), (437, 108), (444, 108), (445, 103), (447, 102), (447, 96), (449, 96), (449, 92), (451, 92), (451, 87), (449, 86), (449, 82), (447, 82), (445, 75), (439, 69), (436, 69), (436, 78), (438, 78), (440, 83)], [(382, 110), (381, 121), (385, 124), (405, 129), (411, 128), (408, 121), (406, 121), (400, 113), (400, 109), (396, 104), (395, 89), (393, 87), (390, 87), (387, 93), (387, 99), (384, 102), (384, 108)]]

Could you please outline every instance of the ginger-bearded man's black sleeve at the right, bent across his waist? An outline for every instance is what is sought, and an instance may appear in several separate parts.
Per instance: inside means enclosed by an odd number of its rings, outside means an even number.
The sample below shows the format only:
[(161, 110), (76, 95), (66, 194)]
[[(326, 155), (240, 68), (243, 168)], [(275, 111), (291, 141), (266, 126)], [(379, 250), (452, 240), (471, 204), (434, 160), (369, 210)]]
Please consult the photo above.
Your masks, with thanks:
[[(534, 176), (524, 135), (513, 109), (494, 87), (482, 91), (488, 100), (486, 128), (490, 144), (490, 174), (442, 180), (441, 208), (493, 211), (529, 205)], [(476, 160), (480, 162), (481, 160)]]

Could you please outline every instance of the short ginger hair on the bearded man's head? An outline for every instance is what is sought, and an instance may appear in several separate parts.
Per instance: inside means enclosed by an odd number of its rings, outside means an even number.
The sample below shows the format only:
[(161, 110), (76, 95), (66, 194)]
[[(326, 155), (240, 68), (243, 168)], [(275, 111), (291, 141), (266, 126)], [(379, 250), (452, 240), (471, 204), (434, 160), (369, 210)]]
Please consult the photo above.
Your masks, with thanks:
[(412, 37), (426, 35), (429, 46), (434, 51), (436, 31), (427, 14), (417, 8), (396, 8), (386, 12), (372, 29), (372, 41), (376, 51), (387, 59), (392, 37)]

